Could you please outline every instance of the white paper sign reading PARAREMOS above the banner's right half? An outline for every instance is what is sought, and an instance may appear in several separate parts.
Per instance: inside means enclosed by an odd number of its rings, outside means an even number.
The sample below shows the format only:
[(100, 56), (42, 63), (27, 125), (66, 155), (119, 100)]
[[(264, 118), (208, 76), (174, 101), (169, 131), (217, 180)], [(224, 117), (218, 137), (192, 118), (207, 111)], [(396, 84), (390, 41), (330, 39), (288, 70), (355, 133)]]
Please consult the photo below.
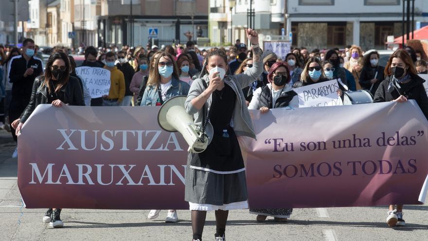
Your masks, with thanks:
[(337, 91), (339, 83), (336, 79), (294, 89), (299, 98), (299, 108), (341, 106), (342, 99)]

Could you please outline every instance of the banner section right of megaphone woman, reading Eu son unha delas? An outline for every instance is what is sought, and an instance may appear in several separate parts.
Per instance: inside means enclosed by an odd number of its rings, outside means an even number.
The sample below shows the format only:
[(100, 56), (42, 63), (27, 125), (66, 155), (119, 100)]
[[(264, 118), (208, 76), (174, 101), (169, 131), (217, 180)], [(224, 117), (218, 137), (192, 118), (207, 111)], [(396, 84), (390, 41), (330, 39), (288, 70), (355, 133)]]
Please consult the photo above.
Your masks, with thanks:
[[(251, 207), (422, 204), (428, 122), (416, 102), (253, 113)], [(425, 201), (422, 197), (421, 201)]]

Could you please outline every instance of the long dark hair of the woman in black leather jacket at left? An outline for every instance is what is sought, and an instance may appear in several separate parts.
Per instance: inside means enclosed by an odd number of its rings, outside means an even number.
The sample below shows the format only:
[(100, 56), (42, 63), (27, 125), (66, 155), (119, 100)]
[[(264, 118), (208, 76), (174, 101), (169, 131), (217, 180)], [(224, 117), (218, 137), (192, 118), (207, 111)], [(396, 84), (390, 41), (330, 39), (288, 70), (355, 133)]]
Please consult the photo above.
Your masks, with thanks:
[[(56, 86), (56, 89), (54, 92), (59, 91), (67, 82), (69, 82), (70, 79), (70, 60), (69, 57), (62, 51), (58, 50), (54, 53), (52, 53), (51, 56), (49, 56), (48, 61), (46, 62), (46, 70), (44, 74), (44, 85), (48, 88), (49, 92), (52, 93), (50, 82), (52, 80), (52, 65), (54, 64), (55, 60), (62, 59), (65, 62), (66, 70), (64, 72), (64, 77), (62, 79), (58, 79), (58, 85)], [(52, 86), (53, 87), (53, 86)]]

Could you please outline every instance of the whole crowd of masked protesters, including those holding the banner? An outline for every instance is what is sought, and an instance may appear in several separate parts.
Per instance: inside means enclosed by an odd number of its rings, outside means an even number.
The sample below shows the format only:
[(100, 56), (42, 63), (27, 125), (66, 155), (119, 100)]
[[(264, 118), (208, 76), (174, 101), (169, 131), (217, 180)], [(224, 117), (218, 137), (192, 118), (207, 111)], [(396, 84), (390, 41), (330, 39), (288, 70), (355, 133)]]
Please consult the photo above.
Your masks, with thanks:
[[(219, 158), (216, 157), (218, 147), (224, 147), (224, 143), (210, 144), (211, 148), (204, 154), (190, 153), (186, 183), (195, 182), (209, 173), (208, 179), (213, 185), (222, 180), (229, 182), (228, 185), (242, 187), (245, 186), (245, 172), (241, 172), (244, 166), (234, 129), (241, 128), (239, 125), (242, 123), (247, 123), (247, 127), (251, 125), (248, 124), (249, 116), (235, 116), (234, 109), (242, 109), (242, 113), (247, 113), (248, 109), (266, 113), (273, 108), (297, 108), (294, 88), (339, 79), (339, 96), (346, 91), (366, 90), (371, 93), (374, 102), (415, 99), (428, 116), (428, 98), (422, 84), (424, 80), (418, 76), (427, 74), (428, 59), (424, 52), (406, 46), (390, 56), (387, 66), (379, 65), (379, 53), (364, 53), (356, 45), (346, 46), (342, 51), (333, 48), (309, 52), (305, 47), (292, 48), (285, 59), (281, 59), (272, 51), (260, 49), (255, 31), (248, 30), (247, 34), (251, 46), (238, 39), (234, 46), (227, 49), (197, 48), (192, 41), (185, 46), (147, 45), (145, 48), (127, 45), (122, 48), (55, 47), (46, 66), (32, 39), (25, 39), (21, 49), (1, 46), (0, 128), (11, 131), (17, 141), (22, 125), (38, 104), (52, 104), (55, 107), (161, 106), (173, 96), (188, 95), (186, 111), (193, 114), (198, 123), (202, 123), (201, 116), (206, 115), (202, 109), (206, 108), (207, 103), (217, 105), (209, 108), (210, 122), (214, 131), (219, 132), (216, 132), (218, 135), (230, 138), (228, 147), (232, 149), (226, 155), (231, 158), (226, 166), (212, 162), (214, 158)], [(75, 68), (79, 66), (76, 66), (73, 55), (84, 56), (82, 66), (105, 68), (110, 72), (108, 94), (99, 98), (90, 97), (85, 82), (76, 75)], [(236, 86), (242, 88), (236, 89)], [(229, 125), (231, 120), (236, 123), (234, 127)], [(248, 136), (254, 137), (252, 130), (245, 131)], [(224, 148), (220, 149), (224, 151)], [(17, 156), (18, 149), (13, 153), (13, 158)], [(231, 175), (233, 179), (225, 178)], [(206, 187), (186, 186), (186, 201), (192, 210), (194, 240), (201, 240), (207, 210), (216, 211), (216, 240), (223, 240), (229, 204), (235, 204), (235, 209), (248, 207), (245, 204), (246, 188), (240, 189), (242, 193), (226, 193), (217, 189), (215, 193), (209, 193), (213, 196), (212, 200), (201, 203), (198, 198), (208, 195), (204, 191), (210, 189)], [(224, 195), (232, 200), (231, 203), (216, 199)], [(402, 205), (390, 206), (387, 219), (390, 226), (405, 225), (402, 208)], [(156, 219), (160, 211), (151, 210), (148, 219)], [(50, 208), (43, 221), (53, 227), (62, 226), (60, 212), (59, 207)], [(251, 209), (250, 212), (257, 215), (259, 222), (265, 221), (268, 216), (277, 222), (286, 222), (292, 209)], [(168, 210), (165, 221), (178, 222), (176, 210)]]

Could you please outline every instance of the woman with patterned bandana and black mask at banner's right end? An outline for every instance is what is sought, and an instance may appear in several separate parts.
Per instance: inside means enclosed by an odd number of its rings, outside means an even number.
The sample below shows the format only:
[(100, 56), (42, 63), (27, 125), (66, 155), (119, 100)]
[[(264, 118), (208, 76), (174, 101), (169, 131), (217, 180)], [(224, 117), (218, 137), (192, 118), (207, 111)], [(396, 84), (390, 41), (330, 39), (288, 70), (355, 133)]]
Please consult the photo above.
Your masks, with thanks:
[[(375, 93), (374, 102), (396, 101), (399, 103), (413, 99), (428, 118), (428, 97), (423, 83), (418, 76), (410, 55), (404, 49), (395, 51), (385, 68), (386, 79), (382, 81)], [(387, 223), (390, 227), (405, 226), (403, 205), (391, 204)]]

